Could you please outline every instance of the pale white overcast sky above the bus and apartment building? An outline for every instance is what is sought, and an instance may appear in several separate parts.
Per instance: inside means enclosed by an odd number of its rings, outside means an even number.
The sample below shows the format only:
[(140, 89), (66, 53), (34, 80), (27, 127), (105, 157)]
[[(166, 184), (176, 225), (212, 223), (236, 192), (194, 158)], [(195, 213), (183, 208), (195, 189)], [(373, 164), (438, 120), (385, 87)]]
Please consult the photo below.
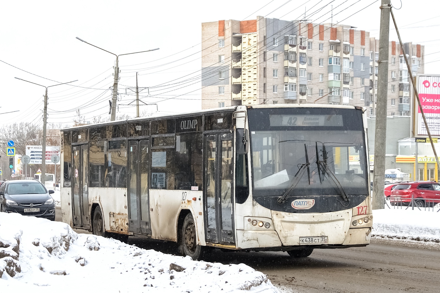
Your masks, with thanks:
[[(367, 7), (369, 4), (372, 5)], [(400, 1), (393, 0), (392, 4), (396, 8), (401, 6)], [(293, 20), (304, 18), (304, 10), (308, 10), (308, 15), (322, 8), (311, 19), (325, 23), (330, 22), (326, 18), (330, 17), (331, 5), (336, 14), (334, 23), (356, 26), (378, 38), (379, 0), (4, 1), (0, 60), (37, 76), (0, 62), (0, 112), (20, 110), (2, 114), (1, 123), (42, 123), (44, 87), (17, 80), (15, 76), (46, 86), (78, 80), (72, 84), (79, 87), (49, 88), (49, 127), (52, 123), (54, 127), (59, 123), (71, 124), (77, 109), (84, 121), (108, 117), (115, 57), (77, 40), (76, 36), (115, 54), (160, 48), (120, 57), (117, 115), (136, 116), (135, 96), (127, 89), (136, 86), (136, 72), (139, 87), (150, 87), (150, 96), (148, 90), (143, 90), (141, 101), (157, 104), (143, 105), (140, 112), (187, 112), (201, 109), (201, 84), (197, 77), (201, 69), (202, 22), (255, 19), (257, 15)], [(440, 4), (418, 0), (417, 5), (402, 0), (402, 8), (394, 12), (402, 28), (403, 42), (425, 45), (425, 73), (440, 73)], [(394, 30), (390, 40), (397, 40)]]

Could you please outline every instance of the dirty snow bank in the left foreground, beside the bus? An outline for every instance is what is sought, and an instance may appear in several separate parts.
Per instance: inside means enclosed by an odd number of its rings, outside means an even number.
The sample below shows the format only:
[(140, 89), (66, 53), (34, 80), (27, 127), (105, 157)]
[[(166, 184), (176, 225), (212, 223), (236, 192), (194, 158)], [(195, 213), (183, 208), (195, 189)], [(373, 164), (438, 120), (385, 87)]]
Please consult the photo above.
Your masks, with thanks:
[(15, 213), (0, 213), (0, 247), (0, 292), (277, 292), (245, 264), (143, 250)]

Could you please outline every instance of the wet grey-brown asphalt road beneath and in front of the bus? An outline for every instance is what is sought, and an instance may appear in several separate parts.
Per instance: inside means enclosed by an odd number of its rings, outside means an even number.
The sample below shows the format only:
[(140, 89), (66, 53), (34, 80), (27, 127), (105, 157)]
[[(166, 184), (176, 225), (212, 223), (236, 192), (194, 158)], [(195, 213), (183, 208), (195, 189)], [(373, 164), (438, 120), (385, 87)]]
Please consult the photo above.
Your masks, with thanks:
[[(56, 221), (61, 221), (58, 215)], [(130, 237), (129, 244), (163, 253), (175, 254), (177, 251), (174, 242)], [(267, 274), (275, 286), (284, 289), (283, 292), (440, 293), (440, 246), (373, 240), (366, 247), (314, 250), (310, 257), (300, 259), (282, 252), (215, 249), (209, 250), (204, 260), (247, 264)]]

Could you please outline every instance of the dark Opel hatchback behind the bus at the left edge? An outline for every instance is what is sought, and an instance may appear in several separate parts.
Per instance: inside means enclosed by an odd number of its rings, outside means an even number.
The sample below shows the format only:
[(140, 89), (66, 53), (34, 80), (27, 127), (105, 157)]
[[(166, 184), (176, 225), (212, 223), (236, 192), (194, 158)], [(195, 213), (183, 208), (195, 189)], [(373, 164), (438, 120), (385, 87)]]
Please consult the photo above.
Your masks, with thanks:
[(47, 190), (37, 180), (12, 180), (0, 187), (0, 211), (20, 213), (55, 221), (55, 202)]

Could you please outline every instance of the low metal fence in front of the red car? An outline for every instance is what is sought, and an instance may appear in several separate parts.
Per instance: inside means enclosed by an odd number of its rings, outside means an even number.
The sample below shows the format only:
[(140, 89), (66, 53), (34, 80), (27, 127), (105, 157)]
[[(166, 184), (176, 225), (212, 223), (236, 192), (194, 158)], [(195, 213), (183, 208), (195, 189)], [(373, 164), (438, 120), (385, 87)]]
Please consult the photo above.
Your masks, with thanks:
[[(408, 199), (411, 199), (411, 201), (408, 202)], [(390, 209), (394, 208), (408, 210), (409, 208), (411, 208), (411, 210), (418, 209), (432, 212), (440, 211), (440, 199), (414, 198), (414, 195), (411, 195), (411, 198), (401, 196), (389, 196), (385, 198), (384, 202), (385, 206)]]

